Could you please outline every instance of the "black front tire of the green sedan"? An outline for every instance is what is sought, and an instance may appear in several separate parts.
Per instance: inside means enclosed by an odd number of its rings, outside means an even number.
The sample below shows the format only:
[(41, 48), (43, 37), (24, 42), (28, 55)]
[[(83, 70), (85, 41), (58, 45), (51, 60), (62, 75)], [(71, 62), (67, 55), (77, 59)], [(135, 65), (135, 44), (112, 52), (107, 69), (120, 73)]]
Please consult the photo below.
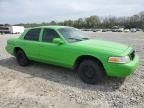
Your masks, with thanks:
[(104, 69), (96, 60), (84, 60), (78, 67), (81, 80), (88, 84), (96, 84), (104, 77)]

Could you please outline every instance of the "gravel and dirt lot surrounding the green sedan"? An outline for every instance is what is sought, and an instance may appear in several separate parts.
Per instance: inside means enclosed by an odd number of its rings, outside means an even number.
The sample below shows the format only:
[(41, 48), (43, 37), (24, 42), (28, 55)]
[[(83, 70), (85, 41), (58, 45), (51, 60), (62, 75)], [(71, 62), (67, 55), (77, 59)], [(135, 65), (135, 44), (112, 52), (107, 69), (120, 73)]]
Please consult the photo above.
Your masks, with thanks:
[(4, 47), (14, 35), (0, 35), (0, 108), (109, 108), (144, 107), (144, 33), (91, 33), (93, 38), (132, 45), (141, 64), (125, 78), (105, 78), (84, 84), (68, 69), (33, 63), (17, 65)]

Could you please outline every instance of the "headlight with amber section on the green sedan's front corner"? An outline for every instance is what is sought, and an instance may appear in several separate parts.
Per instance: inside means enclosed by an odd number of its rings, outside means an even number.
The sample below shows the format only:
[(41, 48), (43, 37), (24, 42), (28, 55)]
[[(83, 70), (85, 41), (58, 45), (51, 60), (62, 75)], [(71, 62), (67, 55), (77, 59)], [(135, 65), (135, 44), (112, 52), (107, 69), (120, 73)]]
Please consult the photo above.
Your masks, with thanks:
[(130, 58), (128, 56), (124, 57), (109, 57), (108, 62), (110, 63), (128, 63)]

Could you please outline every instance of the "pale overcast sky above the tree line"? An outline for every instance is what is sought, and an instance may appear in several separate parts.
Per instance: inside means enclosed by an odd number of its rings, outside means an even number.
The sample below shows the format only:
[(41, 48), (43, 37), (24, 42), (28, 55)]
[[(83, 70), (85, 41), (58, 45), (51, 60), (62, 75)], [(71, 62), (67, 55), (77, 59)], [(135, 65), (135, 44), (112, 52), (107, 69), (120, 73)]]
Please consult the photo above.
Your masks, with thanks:
[(90, 15), (130, 16), (144, 0), (0, 0), (0, 23), (40, 23)]

